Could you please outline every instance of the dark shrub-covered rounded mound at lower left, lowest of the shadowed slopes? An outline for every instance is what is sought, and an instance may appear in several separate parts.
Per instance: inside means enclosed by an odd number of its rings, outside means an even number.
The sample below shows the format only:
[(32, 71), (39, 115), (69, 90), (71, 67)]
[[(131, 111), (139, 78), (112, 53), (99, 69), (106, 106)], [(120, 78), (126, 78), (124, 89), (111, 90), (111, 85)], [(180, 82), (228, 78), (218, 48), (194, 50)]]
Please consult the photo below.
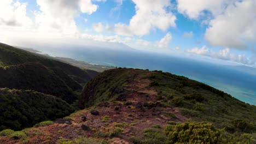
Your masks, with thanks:
[(74, 111), (60, 98), (31, 90), (1, 88), (0, 103), (0, 130), (20, 130)]

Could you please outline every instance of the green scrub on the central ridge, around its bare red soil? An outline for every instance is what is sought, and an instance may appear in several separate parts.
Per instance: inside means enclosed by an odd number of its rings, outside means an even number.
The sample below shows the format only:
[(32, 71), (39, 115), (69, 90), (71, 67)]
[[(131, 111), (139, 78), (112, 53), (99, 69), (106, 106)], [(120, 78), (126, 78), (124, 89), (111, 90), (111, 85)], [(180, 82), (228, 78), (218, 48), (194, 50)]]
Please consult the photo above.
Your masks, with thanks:
[[(79, 99), (80, 108), (104, 101), (125, 101), (133, 91), (129, 90), (129, 83), (138, 77), (150, 81), (148, 87), (158, 92), (156, 100), (163, 107), (176, 107), (182, 115), (193, 122), (172, 125), (168, 131), (156, 128), (153, 132), (150, 132), (152, 129), (146, 130), (146, 137), (133, 137), (134, 143), (136, 141), (137, 143), (154, 143), (154, 141), (251, 143), (256, 141), (256, 106), (246, 104), (204, 83), (162, 71), (121, 68), (104, 71), (85, 86)], [(172, 113), (167, 114), (175, 118)], [(150, 138), (154, 133), (156, 137)]]

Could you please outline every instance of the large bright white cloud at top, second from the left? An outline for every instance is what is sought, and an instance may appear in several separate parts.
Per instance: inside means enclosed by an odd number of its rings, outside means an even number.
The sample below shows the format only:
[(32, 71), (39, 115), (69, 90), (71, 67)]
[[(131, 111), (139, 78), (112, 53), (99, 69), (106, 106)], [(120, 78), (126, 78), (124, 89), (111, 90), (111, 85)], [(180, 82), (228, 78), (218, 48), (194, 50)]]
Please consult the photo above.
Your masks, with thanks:
[(92, 14), (97, 5), (91, 0), (37, 0), (40, 11), (35, 13), (36, 27), (41, 33), (77, 35), (78, 28), (74, 17), (80, 13)]

